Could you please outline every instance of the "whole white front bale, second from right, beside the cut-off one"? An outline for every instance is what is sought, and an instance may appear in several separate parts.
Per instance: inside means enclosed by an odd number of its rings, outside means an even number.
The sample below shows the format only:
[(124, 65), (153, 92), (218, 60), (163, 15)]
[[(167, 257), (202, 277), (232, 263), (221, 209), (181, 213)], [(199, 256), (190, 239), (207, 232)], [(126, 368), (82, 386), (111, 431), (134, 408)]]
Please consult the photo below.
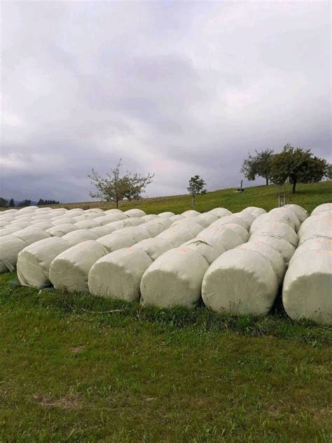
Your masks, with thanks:
[(222, 254), (207, 270), (202, 299), (212, 311), (266, 315), (277, 297), (277, 275), (257, 251), (236, 248)]

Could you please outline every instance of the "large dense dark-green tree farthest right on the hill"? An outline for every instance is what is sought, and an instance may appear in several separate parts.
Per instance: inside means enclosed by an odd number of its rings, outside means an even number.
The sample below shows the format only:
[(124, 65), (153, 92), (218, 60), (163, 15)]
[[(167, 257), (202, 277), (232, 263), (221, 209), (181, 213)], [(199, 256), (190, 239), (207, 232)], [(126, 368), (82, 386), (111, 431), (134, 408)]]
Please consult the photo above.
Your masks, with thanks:
[(292, 193), (298, 183), (320, 182), (328, 177), (331, 165), (324, 158), (312, 154), (310, 149), (294, 148), (286, 144), (280, 154), (275, 154), (271, 166), (271, 182), (282, 185), (289, 179)]

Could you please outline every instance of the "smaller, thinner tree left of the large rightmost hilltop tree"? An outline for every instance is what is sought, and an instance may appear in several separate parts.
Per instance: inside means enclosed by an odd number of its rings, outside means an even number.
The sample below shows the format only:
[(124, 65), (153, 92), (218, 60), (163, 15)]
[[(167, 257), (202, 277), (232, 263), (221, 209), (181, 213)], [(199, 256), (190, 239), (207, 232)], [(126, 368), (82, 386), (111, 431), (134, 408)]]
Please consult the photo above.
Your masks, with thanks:
[(268, 185), (271, 174), (271, 162), (273, 157), (273, 149), (264, 149), (261, 152), (256, 151), (256, 156), (248, 154), (242, 163), (240, 173), (248, 180), (254, 180), (256, 177), (263, 177)]

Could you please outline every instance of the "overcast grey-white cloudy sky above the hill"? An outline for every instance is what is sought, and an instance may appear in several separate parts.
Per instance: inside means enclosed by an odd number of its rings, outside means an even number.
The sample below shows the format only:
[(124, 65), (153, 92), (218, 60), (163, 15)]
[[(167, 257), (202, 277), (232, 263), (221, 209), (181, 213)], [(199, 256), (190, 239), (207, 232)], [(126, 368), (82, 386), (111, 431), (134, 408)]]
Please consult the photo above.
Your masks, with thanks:
[[(329, 1), (5, 1), (1, 195), (86, 201), (88, 174), (148, 196), (237, 186), (248, 151), (330, 158)], [(254, 184), (259, 184), (259, 181)], [(251, 183), (252, 184), (252, 183)]]

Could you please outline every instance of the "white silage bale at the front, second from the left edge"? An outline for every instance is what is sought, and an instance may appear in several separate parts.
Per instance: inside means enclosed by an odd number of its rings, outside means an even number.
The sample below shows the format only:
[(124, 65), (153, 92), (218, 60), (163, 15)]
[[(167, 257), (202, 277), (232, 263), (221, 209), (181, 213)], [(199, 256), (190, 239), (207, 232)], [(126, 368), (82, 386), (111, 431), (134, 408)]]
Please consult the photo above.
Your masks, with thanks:
[(50, 263), (69, 248), (69, 243), (60, 237), (39, 240), (25, 247), (18, 254), (18, 280), (23, 286), (48, 287)]

